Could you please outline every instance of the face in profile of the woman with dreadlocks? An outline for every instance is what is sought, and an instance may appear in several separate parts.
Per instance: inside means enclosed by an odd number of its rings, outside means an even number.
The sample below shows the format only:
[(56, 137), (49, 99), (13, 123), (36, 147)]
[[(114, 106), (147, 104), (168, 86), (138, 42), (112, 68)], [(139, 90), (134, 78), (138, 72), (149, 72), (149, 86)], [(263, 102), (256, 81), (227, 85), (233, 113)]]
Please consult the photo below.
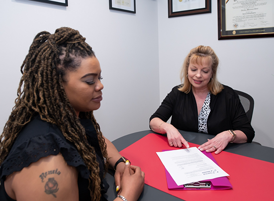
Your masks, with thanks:
[(68, 70), (64, 78), (67, 98), (77, 116), (79, 112), (100, 108), (104, 85), (101, 83), (100, 63), (95, 56), (82, 59), (80, 66), (76, 70)]

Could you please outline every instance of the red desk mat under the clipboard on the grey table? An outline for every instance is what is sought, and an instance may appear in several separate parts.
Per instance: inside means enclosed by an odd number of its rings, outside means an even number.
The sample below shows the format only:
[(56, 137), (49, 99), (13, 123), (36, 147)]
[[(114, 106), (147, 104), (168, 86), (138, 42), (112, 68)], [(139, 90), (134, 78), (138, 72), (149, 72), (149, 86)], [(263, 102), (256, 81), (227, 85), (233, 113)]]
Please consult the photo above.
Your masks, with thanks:
[[(199, 147), (189, 143), (190, 147)], [(165, 170), (156, 152), (170, 147), (167, 138), (153, 133), (120, 151), (132, 165), (145, 172), (145, 183), (184, 200), (273, 200), (274, 163), (222, 151), (212, 154), (219, 166), (230, 176), (232, 189), (227, 190), (169, 190)], [(273, 156), (274, 157), (274, 156)]]

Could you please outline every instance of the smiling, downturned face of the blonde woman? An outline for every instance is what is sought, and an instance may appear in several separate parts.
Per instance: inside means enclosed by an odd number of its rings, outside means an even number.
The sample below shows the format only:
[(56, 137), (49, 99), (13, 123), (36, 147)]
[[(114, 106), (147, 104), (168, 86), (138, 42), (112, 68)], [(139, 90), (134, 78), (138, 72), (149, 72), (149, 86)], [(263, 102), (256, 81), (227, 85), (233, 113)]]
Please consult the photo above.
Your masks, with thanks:
[(194, 89), (203, 90), (207, 88), (212, 77), (211, 63), (202, 59), (202, 63), (193, 63), (190, 61), (188, 69), (188, 78)]

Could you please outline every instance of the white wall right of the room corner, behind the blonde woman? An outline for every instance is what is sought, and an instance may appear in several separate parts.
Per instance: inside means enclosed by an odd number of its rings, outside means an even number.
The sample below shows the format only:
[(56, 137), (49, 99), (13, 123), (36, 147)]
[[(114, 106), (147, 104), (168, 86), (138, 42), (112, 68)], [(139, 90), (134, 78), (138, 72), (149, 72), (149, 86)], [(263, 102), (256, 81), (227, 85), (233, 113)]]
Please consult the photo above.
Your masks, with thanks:
[(254, 141), (274, 147), (274, 38), (218, 40), (217, 1), (211, 14), (167, 16), (166, 1), (158, 1), (160, 100), (180, 84), (178, 72), (189, 51), (211, 46), (221, 62), (219, 81), (254, 98)]

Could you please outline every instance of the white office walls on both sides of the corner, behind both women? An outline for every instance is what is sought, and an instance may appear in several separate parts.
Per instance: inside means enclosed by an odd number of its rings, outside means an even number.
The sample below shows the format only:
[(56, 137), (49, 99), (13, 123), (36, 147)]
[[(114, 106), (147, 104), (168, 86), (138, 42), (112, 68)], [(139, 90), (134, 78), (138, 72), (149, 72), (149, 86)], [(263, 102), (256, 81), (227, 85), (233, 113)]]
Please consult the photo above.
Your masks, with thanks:
[(253, 96), (255, 141), (274, 147), (274, 38), (218, 41), (217, 1), (211, 14), (176, 18), (167, 18), (166, 0), (137, 0), (136, 14), (110, 11), (102, 0), (68, 3), (0, 2), (0, 130), (14, 106), (19, 69), (34, 36), (68, 26), (86, 37), (101, 63), (104, 99), (95, 115), (110, 140), (149, 129), (151, 114), (180, 83), (184, 58), (202, 44), (220, 58), (219, 80)]

